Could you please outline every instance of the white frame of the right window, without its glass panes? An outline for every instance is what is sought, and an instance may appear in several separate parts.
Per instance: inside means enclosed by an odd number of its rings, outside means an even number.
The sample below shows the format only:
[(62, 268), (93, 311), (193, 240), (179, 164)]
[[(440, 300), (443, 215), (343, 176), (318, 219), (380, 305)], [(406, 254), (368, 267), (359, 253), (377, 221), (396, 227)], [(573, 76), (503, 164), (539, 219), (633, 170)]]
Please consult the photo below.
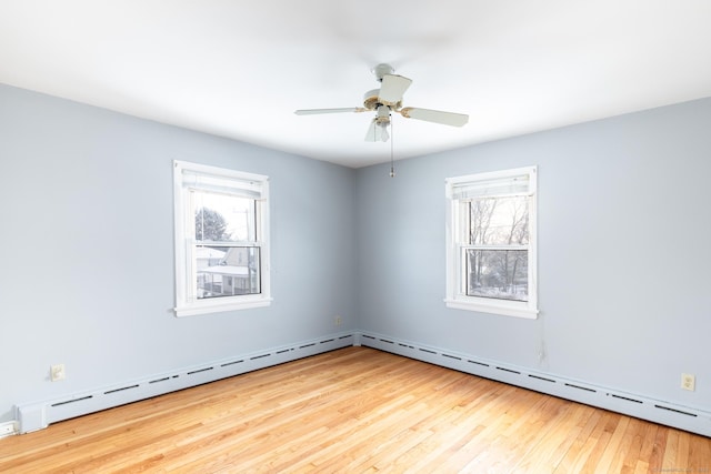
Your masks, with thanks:
[[(457, 189), (462, 186), (487, 186), (493, 181), (505, 182), (517, 177), (528, 177), (528, 189), (523, 191), (529, 196), (529, 243), (528, 248), (528, 301), (512, 301), (503, 299), (471, 296), (467, 294), (465, 263), (463, 249), (469, 244), (469, 218), (462, 210), (465, 199), (458, 196)], [(520, 195), (518, 190), (517, 194)], [(493, 171), (464, 177), (448, 178), (445, 180), (447, 195), (447, 296), (448, 307), (501, 314), (507, 316), (537, 319), (538, 317), (538, 255), (537, 255), (537, 167), (517, 168), (512, 170)], [(493, 190), (487, 195), (515, 195), (503, 190)]]

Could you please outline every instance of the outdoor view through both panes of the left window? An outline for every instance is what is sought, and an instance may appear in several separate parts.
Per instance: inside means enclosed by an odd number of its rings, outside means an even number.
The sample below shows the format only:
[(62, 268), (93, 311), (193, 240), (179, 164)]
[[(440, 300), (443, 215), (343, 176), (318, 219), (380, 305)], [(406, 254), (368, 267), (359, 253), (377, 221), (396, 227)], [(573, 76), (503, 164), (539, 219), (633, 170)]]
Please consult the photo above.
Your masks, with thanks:
[(253, 199), (194, 191), (198, 299), (260, 293)]

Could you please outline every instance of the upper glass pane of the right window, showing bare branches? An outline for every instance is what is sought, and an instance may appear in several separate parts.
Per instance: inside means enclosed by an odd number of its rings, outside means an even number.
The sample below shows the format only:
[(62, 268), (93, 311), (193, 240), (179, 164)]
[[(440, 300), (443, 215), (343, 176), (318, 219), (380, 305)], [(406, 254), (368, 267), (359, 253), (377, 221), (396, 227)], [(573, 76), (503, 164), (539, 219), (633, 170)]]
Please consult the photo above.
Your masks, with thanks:
[(472, 245), (529, 243), (529, 198), (477, 199), (469, 203)]

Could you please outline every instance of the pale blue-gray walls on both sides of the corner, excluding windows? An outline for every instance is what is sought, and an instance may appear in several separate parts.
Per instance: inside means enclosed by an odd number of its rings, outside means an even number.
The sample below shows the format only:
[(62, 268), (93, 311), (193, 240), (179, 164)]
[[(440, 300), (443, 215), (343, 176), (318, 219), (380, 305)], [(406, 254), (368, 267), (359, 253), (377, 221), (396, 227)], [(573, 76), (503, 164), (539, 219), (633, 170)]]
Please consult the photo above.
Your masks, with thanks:
[[(709, 124), (711, 100), (694, 101), (405, 160), (390, 179), (0, 85), (0, 422), (16, 403), (329, 334), (336, 314), (339, 330), (710, 410)], [(271, 178), (272, 306), (172, 315), (174, 159)], [(530, 164), (541, 315), (445, 309), (444, 178)], [(66, 381), (49, 382), (53, 363)]]

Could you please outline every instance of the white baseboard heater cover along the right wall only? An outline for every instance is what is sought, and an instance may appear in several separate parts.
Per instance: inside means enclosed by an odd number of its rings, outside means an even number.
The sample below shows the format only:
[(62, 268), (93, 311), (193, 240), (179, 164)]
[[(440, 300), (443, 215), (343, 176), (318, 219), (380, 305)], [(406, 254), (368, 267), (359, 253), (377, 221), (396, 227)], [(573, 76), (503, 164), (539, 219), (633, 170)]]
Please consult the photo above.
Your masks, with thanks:
[(711, 437), (711, 412), (704, 410), (619, 392), (547, 373), (533, 372), (524, 367), (481, 360), (445, 349), (427, 346), (377, 333), (361, 332), (357, 334), (357, 340), (364, 347), (391, 352), (409, 359)]

